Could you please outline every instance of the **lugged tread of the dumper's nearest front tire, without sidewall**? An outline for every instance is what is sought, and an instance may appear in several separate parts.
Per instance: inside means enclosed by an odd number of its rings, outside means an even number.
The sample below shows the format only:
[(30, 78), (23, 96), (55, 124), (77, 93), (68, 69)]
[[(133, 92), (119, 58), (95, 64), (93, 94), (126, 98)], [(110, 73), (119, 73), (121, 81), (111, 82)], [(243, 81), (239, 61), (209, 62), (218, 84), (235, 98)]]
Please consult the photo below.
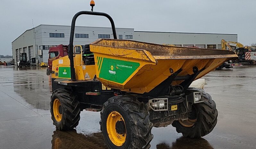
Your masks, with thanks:
[[(104, 103), (103, 108), (100, 112), (101, 119), (105, 107), (109, 104), (118, 104), (123, 107), (124, 111), (128, 113), (128, 117), (131, 121), (132, 126), (132, 143), (128, 147), (129, 149), (149, 149), (150, 141), (153, 139), (153, 134), (151, 134), (151, 129), (153, 124), (149, 120), (149, 112), (147, 111), (147, 105), (139, 102), (138, 100), (127, 97), (127, 96), (115, 96), (109, 98), (106, 103)], [(142, 110), (140, 107), (142, 106)], [(100, 120), (100, 125), (102, 127), (102, 120)], [(105, 138), (105, 135), (104, 139)], [(136, 141), (137, 140), (137, 141)]]

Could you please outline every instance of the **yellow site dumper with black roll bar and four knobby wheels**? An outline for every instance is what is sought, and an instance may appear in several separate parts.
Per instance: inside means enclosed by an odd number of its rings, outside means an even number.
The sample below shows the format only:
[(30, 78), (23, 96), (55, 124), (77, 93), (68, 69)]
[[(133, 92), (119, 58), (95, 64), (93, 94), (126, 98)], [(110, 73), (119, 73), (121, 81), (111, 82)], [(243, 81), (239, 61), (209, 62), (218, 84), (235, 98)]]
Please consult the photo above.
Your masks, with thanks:
[[(81, 14), (107, 17), (114, 39), (98, 39), (74, 53), (75, 21)], [(132, 149), (150, 147), (152, 127), (172, 124), (190, 138), (209, 134), (217, 123), (216, 103), (189, 86), (237, 57), (232, 51), (117, 40), (112, 18), (89, 11), (73, 17), (68, 50), (68, 56), (53, 61), (51, 71), (56, 129), (75, 128), (83, 109), (100, 111), (106, 145)]]

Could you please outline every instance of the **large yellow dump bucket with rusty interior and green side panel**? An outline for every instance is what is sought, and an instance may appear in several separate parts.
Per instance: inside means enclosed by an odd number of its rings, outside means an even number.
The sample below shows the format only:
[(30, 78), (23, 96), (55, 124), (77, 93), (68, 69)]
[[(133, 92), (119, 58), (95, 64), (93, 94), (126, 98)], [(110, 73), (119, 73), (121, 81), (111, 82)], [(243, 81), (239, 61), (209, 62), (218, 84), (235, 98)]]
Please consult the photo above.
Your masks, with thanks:
[[(90, 44), (90, 51), (94, 53), (97, 78), (105, 86), (134, 93), (149, 92), (177, 71), (177, 76), (189, 76), (197, 69), (200, 73), (196, 80), (223, 62), (237, 58), (228, 50), (115, 39), (98, 39)], [(179, 79), (171, 84), (181, 82)]]

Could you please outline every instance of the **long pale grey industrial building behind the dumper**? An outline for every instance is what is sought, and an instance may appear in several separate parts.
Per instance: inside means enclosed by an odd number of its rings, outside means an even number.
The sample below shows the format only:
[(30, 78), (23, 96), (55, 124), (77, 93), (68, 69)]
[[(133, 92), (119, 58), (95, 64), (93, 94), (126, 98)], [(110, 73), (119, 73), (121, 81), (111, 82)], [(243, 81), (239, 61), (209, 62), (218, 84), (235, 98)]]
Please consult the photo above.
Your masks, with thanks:
[[(39, 62), (47, 63), (51, 46), (69, 44), (70, 28), (62, 25), (39, 25), (26, 30), (12, 42), (14, 62), (19, 61), (20, 53), (27, 53), (28, 60), (36, 58)], [(221, 39), (237, 41), (237, 34), (146, 32), (134, 31), (134, 28), (116, 28), (116, 34), (118, 39), (214, 49), (221, 49)], [(75, 27), (74, 45), (89, 44), (98, 38), (113, 38), (112, 29), (110, 27)]]

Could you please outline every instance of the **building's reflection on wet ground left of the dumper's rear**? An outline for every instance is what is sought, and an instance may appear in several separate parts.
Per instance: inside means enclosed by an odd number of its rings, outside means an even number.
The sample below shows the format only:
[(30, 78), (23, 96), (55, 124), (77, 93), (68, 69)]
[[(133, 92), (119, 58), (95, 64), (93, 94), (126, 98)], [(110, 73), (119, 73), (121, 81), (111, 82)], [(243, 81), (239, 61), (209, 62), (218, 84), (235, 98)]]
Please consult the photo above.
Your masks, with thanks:
[[(51, 97), (51, 78), (45, 67), (23, 67), (13, 71), (14, 92), (37, 109), (49, 110)], [(35, 70), (36, 69), (36, 70)]]

